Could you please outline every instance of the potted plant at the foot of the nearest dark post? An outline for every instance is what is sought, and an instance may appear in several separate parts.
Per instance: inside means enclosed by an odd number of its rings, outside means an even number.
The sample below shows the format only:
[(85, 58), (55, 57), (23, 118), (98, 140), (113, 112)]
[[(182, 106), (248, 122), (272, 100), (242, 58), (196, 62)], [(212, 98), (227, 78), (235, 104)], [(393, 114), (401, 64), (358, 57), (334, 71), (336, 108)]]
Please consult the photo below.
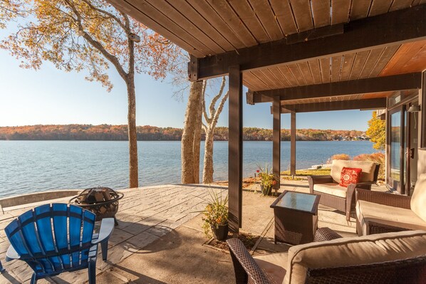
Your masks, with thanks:
[(228, 196), (222, 199), (222, 194), (210, 191), (210, 201), (203, 211), (202, 228), (207, 237), (211, 233), (218, 241), (224, 241), (228, 236)]

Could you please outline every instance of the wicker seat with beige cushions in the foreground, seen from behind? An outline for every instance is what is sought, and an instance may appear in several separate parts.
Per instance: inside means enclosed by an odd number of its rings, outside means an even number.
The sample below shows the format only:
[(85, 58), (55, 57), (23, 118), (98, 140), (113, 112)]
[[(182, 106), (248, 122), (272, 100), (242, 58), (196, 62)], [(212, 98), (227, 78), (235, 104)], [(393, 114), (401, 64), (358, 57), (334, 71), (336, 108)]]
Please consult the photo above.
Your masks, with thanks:
[(237, 284), (426, 283), (426, 231), (336, 238), (254, 258), (237, 238), (227, 243)]

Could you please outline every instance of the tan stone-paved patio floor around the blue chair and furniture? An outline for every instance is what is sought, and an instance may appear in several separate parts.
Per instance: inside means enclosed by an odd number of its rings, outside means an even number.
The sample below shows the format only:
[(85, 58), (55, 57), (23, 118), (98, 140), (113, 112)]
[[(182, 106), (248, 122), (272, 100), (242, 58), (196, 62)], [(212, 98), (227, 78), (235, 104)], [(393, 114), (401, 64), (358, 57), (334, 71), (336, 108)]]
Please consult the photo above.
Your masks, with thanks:
[[(109, 241), (108, 262), (98, 257), (97, 283), (234, 283), (234, 269), (228, 253), (205, 246), (202, 214), (209, 199), (209, 186), (163, 185), (126, 189), (117, 214), (118, 226)], [(211, 186), (227, 194), (224, 186)], [(280, 191), (308, 192), (306, 181), (286, 181)], [(386, 190), (373, 186), (373, 190)], [(0, 283), (29, 283), (32, 270), (22, 261), (6, 263), (9, 247), (4, 227), (28, 209), (51, 202), (68, 203), (70, 197), (10, 207), (0, 214), (0, 258), (6, 272)], [(243, 193), (242, 232), (261, 238), (252, 253), (287, 251), (274, 244), (275, 199), (254, 190)], [(329, 227), (342, 236), (356, 236), (355, 220), (326, 206), (318, 208), (318, 227)], [(63, 273), (38, 283), (87, 283), (87, 270)]]

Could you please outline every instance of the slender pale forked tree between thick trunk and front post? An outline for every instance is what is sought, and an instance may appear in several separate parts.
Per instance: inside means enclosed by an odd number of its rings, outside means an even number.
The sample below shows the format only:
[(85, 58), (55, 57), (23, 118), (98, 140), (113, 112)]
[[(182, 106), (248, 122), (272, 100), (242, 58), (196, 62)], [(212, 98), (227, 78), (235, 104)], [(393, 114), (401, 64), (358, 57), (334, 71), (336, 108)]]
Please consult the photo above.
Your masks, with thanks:
[[(214, 130), (216, 129), (217, 120), (223, 110), (224, 104), (228, 99), (229, 92), (224, 93), (225, 83), (227, 82), (225, 77), (222, 77), (222, 83), (219, 88), (217, 95), (214, 95), (212, 101), (209, 104), (209, 110), (207, 113), (206, 109), (206, 88), (207, 82), (204, 83), (202, 91), (202, 112), (205, 123), (202, 124), (204, 133), (206, 134), (206, 140), (204, 142), (204, 164), (202, 170), (202, 182), (203, 184), (210, 184), (213, 182), (213, 142), (214, 142)], [(223, 96), (222, 96), (223, 95)], [(219, 101), (220, 100), (220, 101)], [(219, 105), (216, 108), (216, 104), (219, 101)]]

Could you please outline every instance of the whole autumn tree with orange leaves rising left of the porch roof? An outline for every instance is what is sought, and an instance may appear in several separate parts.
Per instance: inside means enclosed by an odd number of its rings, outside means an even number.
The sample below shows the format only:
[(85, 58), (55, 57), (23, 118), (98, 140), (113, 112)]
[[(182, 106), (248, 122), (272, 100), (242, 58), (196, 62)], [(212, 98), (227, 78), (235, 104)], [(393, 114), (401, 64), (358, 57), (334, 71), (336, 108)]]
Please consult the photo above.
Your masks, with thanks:
[[(107, 72), (110, 65), (123, 79), (128, 93), (130, 188), (137, 187), (135, 73), (164, 78), (174, 68), (177, 47), (103, 0), (24, 3), (28, 16), (0, 46), (20, 58), (21, 67), (38, 70), (43, 61), (50, 61), (61, 70), (85, 70), (87, 80), (100, 82), (108, 91), (113, 88)], [(2, 21), (9, 21), (8, 15)]]

